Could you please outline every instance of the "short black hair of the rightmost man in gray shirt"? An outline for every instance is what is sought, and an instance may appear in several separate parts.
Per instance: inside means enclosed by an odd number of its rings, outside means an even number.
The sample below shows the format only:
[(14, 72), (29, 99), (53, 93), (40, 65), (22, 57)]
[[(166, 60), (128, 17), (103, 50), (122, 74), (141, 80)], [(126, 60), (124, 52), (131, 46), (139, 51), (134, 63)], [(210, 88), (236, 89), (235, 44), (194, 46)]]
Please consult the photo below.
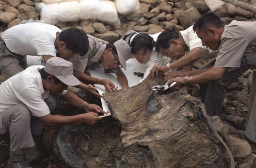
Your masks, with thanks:
[(224, 23), (220, 20), (220, 17), (217, 16), (214, 13), (206, 13), (203, 14), (198, 20), (196, 20), (193, 30), (194, 32), (196, 31), (196, 28), (198, 30), (203, 30), (204, 28), (209, 28), (209, 27), (215, 27), (215, 28), (223, 28)]

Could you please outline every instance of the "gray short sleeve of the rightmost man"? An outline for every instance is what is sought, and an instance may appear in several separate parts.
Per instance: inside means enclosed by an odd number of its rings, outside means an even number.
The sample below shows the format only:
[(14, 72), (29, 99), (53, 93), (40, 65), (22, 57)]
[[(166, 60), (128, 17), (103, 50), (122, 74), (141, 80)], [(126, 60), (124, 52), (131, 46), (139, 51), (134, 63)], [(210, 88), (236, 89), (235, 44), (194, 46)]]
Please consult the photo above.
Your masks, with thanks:
[(244, 52), (249, 44), (246, 38), (238, 36), (224, 36), (220, 44), (214, 66), (239, 68)]

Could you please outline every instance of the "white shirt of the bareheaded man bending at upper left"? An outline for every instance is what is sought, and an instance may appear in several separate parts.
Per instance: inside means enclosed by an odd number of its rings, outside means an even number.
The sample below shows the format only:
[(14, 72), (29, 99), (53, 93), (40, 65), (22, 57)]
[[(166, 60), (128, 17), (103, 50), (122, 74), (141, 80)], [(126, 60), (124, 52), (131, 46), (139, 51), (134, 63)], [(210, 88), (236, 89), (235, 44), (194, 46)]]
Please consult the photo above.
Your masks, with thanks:
[(59, 28), (44, 23), (26, 23), (13, 26), (1, 35), (6, 47), (22, 56), (56, 56), (54, 42)]

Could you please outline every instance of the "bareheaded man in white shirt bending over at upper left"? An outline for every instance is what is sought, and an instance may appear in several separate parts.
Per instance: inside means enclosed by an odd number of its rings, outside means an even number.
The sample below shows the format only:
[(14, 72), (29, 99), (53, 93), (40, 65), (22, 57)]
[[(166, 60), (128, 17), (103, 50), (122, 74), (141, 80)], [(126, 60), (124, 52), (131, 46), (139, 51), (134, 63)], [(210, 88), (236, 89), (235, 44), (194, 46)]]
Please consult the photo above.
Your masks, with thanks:
[(46, 62), (56, 57), (68, 60), (74, 54), (84, 56), (88, 51), (88, 37), (83, 30), (70, 28), (61, 31), (56, 26), (39, 22), (19, 24), (1, 34), (0, 71), (6, 78), (27, 66), (26, 56), (42, 56)]

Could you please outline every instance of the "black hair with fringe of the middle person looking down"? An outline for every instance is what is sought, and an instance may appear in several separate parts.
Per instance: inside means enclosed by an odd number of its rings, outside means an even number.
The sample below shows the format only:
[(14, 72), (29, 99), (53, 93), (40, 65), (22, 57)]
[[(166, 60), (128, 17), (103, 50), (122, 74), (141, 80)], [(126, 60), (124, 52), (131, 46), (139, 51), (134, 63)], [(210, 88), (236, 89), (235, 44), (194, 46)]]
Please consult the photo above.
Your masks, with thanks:
[(147, 33), (139, 33), (133, 38), (130, 44), (131, 52), (132, 54), (136, 54), (140, 49), (144, 49), (146, 53), (147, 50), (153, 50), (155, 43), (154, 39)]

